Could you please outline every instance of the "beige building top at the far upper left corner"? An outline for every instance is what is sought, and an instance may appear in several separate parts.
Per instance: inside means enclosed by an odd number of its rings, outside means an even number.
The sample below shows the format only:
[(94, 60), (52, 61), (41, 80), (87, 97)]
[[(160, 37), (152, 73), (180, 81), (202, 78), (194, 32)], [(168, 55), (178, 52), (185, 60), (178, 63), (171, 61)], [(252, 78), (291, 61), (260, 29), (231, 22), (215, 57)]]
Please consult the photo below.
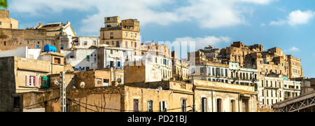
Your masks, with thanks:
[(0, 10), (0, 29), (18, 29), (19, 21), (10, 18), (9, 10)]

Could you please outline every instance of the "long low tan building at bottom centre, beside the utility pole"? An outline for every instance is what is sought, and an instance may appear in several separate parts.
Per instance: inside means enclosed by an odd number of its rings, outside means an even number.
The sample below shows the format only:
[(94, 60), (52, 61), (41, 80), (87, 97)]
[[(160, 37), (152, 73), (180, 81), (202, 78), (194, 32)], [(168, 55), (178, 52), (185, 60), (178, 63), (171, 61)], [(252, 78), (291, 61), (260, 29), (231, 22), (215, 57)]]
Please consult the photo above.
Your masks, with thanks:
[[(190, 83), (163, 81), (67, 90), (67, 111), (188, 112), (193, 111), (192, 89)], [(59, 112), (59, 102), (48, 101), (57, 96), (58, 90), (46, 92), (41, 99), (47, 101), (47, 104), (41, 104), (41, 107), (46, 112)]]

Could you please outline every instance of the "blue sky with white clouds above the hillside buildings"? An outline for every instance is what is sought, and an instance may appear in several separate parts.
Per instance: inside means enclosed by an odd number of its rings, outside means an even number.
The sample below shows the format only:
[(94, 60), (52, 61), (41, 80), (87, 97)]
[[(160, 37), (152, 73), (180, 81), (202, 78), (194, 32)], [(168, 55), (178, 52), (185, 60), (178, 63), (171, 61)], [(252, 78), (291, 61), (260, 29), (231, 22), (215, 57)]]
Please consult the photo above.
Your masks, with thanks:
[(11, 0), (20, 29), (39, 22), (71, 22), (78, 36), (99, 36), (104, 17), (138, 19), (142, 41), (196, 42), (196, 48), (260, 43), (302, 59), (315, 77), (314, 0)]

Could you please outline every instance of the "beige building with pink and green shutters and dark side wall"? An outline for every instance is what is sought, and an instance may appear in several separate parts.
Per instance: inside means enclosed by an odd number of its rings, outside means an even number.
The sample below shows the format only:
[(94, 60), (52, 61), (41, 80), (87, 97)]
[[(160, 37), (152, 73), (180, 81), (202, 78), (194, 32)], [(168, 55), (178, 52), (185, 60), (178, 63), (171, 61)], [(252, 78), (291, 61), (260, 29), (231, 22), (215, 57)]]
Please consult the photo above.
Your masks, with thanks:
[[(21, 57), (0, 58), (0, 111), (22, 111), (24, 101), (20, 93), (38, 92), (43, 77), (54, 73), (52, 62)], [(26, 99), (25, 99), (26, 100)]]

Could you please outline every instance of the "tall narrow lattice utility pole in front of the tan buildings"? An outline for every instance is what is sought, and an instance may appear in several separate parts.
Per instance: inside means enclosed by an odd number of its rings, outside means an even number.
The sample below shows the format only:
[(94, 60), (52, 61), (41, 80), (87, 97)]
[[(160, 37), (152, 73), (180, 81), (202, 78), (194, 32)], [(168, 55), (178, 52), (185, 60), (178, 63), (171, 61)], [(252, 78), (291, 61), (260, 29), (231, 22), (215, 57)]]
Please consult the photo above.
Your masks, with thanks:
[(60, 85), (60, 112), (66, 112), (66, 73), (60, 72), (61, 85)]

